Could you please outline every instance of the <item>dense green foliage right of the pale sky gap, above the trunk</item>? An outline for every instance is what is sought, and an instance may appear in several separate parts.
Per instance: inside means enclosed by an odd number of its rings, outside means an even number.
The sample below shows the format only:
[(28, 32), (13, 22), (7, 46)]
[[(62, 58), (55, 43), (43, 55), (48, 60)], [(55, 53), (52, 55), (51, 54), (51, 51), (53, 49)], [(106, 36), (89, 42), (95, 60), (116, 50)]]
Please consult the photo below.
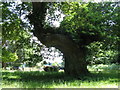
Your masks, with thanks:
[[(118, 40), (119, 8), (117, 2), (65, 2), (61, 4), (65, 17), (60, 28), (81, 45), (96, 40)], [(116, 21), (116, 17), (118, 21)], [(109, 40), (107, 41), (109, 42)]]

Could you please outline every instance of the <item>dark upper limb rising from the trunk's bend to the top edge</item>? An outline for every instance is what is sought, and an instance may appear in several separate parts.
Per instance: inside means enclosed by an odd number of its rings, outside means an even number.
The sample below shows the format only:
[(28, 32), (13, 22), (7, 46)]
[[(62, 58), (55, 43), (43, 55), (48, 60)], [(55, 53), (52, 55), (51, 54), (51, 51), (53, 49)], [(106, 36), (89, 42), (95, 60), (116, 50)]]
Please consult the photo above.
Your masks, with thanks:
[[(61, 47), (62, 44), (74, 43), (72, 40), (69, 39), (68, 36), (65, 36), (63, 34), (50, 33), (49, 31), (54, 30), (54, 28), (44, 28), (43, 22), (45, 20), (45, 14), (47, 10), (46, 4), (47, 3), (45, 2), (32, 2), (33, 13), (29, 15), (29, 19), (30, 22), (34, 24), (34, 35), (38, 37), (38, 39), (46, 46), (57, 46), (56, 44), (59, 44), (58, 46)], [(69, 43), (65, 43), (66, 41), (68, 41)]]

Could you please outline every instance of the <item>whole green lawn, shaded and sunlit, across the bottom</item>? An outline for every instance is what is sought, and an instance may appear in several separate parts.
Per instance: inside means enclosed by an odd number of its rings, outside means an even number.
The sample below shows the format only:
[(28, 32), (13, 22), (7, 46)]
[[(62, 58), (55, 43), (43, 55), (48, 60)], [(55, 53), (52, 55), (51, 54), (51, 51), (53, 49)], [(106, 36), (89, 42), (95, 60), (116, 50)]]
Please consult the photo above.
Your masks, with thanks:
[(118, 88), (118, 73), (91, 72), (81, 80), (63, 72), (2, 71), (2, 88)]

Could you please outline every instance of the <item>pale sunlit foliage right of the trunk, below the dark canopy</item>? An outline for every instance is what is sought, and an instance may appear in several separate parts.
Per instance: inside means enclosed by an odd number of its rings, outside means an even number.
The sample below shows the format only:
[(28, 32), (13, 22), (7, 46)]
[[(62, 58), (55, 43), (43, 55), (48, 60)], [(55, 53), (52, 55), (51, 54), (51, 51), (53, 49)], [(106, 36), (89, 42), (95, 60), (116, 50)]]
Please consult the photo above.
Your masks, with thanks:
[[(115, 46), (114, 46), (115, 47)], [(110, 49), (103, 42), (93, 42), (87, 46), (89, 64), (109, 64), (117, 62), (117, 49)]]

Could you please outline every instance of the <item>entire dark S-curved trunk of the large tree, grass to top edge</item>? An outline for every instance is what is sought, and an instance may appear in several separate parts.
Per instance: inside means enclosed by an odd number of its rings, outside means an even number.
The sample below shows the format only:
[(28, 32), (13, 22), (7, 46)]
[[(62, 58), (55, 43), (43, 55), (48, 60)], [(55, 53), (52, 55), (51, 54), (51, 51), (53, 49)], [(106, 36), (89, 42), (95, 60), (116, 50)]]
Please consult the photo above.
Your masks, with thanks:
[(43, 10), (45, 9), (45, 3), (33, 2), (32, 4), (33, 13), (29, 15), (29, 19), (35, 28), (34, 35), (47, 47), (56, 47), (62, 51), (65, 58), (66, 74), (73, 76), (87, 74), (88, 70), (85, 60), (85, 50), (68, 36), (47, 33), (49, 30), (44, 29), (42, 24), (42, 21), (44, 21), (45, 18), (45, 10)]

